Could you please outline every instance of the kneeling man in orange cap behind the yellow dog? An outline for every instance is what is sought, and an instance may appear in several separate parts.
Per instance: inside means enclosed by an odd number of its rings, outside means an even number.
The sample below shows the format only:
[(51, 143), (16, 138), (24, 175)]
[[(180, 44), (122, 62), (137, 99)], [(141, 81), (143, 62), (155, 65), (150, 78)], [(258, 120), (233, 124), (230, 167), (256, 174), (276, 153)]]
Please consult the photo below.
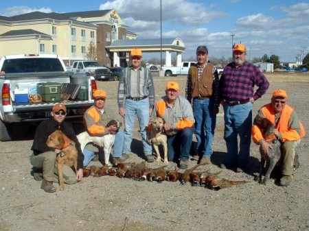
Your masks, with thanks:
[(179, 95), (177, 82), (170, 81), (166, 84), (165, 96), (156, 102), (152, 117), (161, 117), (165, 121), (168, 160), (179, 162), (180, 169), (187, 169), (194, 133), (194, 116), (189, 101)]

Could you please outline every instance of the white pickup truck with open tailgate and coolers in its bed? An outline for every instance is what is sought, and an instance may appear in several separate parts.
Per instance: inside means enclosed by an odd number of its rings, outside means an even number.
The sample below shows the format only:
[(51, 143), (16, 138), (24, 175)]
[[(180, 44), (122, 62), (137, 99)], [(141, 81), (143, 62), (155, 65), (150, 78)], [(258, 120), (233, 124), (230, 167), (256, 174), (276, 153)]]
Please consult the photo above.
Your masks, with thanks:
[[(81, 125), (94, 104), (93, 77), (67, 71), (57, 55), (12, 55), (0, 59), (0, 141), (10, 141), (50, 117), (57, 102), (67, 106), (67, 119)], [(78, 126), (76, 126), (78, 127)]]

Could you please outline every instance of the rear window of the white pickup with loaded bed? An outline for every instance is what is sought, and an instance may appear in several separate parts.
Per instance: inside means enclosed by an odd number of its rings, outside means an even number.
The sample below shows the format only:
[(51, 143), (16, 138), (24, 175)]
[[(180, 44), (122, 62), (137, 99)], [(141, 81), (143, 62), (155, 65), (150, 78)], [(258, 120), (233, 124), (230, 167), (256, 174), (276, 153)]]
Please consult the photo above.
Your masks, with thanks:
[(26, 73), (65, 70), (58, 58), (16, 58), (4, 60), (1, 71), (5, 73)]

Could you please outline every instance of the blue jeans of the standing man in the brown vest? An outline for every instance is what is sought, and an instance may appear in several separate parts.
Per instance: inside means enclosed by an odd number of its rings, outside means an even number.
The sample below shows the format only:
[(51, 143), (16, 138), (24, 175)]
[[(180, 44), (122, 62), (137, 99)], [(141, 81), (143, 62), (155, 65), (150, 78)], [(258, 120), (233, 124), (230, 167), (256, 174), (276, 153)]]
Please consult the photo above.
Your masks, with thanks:
[(196, 154), (202, 154), (210, 158), (212, 154), (212, 142), (216, 128), (216, 114), (214, 114), (214, 99), (193, 99), (192, 102), (197, 145)]

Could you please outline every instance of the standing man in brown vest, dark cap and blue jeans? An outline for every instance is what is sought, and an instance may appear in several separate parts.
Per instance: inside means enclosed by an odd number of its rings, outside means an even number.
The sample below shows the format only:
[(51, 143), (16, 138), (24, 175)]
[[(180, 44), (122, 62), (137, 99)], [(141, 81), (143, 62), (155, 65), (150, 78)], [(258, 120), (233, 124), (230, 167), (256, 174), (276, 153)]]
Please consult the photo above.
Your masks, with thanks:
[(198, 46), (196, 49), (198, 63), (190, 67), (187, 75), (185, 97), (192, 103), (195, 119), (195, 136), (197, 145), (194, 148), (194, 160), (210, 164), (212, 142), (218, 114), (219, 77), (213, 64), (207, 62), (208, 49)]

